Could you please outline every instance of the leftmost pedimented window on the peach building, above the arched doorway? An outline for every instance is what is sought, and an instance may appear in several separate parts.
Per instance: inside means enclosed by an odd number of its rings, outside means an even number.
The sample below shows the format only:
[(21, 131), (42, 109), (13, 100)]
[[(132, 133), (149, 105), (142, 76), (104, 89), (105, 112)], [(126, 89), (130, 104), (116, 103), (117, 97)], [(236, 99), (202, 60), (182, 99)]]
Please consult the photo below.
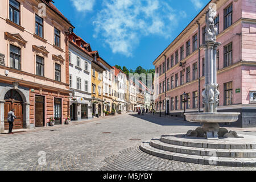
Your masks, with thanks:
[(10, 44), (10, 68), (20, 69), (20, 48)]

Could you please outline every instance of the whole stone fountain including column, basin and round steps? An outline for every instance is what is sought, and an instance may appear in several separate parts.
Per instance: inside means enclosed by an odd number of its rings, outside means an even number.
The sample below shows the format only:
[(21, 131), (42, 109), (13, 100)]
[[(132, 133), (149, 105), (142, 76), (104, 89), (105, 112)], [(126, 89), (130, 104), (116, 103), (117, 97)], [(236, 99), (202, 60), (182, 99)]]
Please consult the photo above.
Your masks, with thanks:
[(186, 113), (189, 122), (203, 123), (203, 127), (187, 134), (162, 135), (142, 142), (139, 148), (147, 154), (164, 159), (195, 164), (229, 167), (256, 167), (256, 138), (239, 137), (235, 131), (220, 128), (219, 123), (236, 122), (240, 113), (217, 113), (218, 91), (216, 77), (217, 29), (214, 27), (216, 11), (209, 7), (206, 15), (205, 36), (205, 90), (204, 113)]

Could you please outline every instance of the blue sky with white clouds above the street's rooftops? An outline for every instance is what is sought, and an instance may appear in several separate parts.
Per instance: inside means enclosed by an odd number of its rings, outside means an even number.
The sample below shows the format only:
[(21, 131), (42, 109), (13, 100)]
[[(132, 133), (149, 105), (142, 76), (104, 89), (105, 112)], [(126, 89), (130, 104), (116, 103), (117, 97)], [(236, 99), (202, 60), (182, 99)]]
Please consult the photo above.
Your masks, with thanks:
[(209, 0), (55, 0), (74, 32), (110, 65), (152, 62)]

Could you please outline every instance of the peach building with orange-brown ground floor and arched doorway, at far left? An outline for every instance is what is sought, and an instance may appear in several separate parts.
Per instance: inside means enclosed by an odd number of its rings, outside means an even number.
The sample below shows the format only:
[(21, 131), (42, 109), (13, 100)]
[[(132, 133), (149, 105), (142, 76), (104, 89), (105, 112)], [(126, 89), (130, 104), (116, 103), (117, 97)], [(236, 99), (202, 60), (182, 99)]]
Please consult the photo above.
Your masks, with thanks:
[(15, 109), (14, 129), (69, 117), (67, 32), (72, 24), (50, 0), (1, 0), (0, 132)]

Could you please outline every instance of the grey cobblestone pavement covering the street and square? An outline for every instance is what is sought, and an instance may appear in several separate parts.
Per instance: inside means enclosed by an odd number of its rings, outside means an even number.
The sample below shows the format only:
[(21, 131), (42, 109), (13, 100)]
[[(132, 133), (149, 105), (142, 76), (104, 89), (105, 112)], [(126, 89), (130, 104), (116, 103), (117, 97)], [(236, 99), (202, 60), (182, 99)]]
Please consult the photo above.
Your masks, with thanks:
[[(1, 170), (232, 170), (156, 158), (139, 144), (163, 134), (185, 133), (199, 125), (176, 118), (122, 114), (0, 136)], [(255, 135), (255, 133), (250, 133)], [(131, 140), (132, 139), (132, 140)], [(44, 158), (45, 154), (45, 158)], [(44, 160), (45, 159), (45, 160)], [(44, 163), (45, 162), (45, 163)], [(39, 163), (43, 164), (40, 165)], [(45, 165), (44, 165), (45, 164)], [(255, 170), (256, 168), (242, 168)]]

